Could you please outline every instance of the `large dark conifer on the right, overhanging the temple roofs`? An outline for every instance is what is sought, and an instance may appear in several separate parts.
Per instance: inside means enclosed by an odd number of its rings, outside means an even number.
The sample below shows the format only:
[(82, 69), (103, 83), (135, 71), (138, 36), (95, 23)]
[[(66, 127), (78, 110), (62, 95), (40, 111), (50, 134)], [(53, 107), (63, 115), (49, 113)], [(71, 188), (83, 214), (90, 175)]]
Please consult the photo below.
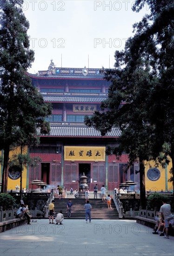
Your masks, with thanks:
[[(150, 13), (133, 25), (123, 51), (115, 52), (115, 69), (105, 70), (111, 81), (107, 101), (86, 124), (104, 135), (119, 127), (120, 146), (130, 162), (139, 159), (141, 206), (145, 207), (144, 160), (158, 159), (164, 145), (174, 164), (174, 1), (135, 0), (133, 11), (148, 4)], [(167, 159), (167, 158), (166, 158)], [(168, 161), (168, 160), (167, 160)]]

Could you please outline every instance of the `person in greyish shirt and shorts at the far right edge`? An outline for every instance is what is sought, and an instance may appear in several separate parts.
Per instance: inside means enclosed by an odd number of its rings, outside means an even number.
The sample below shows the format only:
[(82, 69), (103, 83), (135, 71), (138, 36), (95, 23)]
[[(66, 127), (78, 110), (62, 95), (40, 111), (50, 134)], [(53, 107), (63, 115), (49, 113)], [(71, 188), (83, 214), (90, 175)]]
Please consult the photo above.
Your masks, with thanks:
[(163, 205), (160, 208), (161, 214), (164, 216), (165, 221), (165, 228), (166, 228), (166, 236), (164, 238), (169, 238), (168, 236), (168, 228), (169, 228), (169, 221), (174, 218), (171, 212), (171, 206), (169, 203), (167, 203), (166, 199), (162, 200)]

